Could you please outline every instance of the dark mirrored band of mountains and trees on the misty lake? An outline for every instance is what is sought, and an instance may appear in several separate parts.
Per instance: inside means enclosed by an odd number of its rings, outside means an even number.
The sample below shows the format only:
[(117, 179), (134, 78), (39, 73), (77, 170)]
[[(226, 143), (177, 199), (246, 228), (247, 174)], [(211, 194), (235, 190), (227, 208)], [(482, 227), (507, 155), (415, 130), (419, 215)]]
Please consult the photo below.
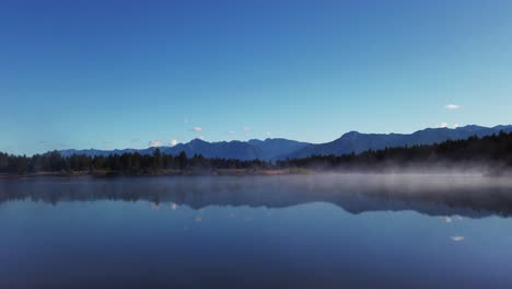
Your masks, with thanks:
[(287, 175), (32, 178), (0, 182), (0, 203), (31, 199), (148, 200), (282, 208), (314, 201), (351, 213), (415, 210), (431, 216), (512, 215), (512, 180), (477, 175)]

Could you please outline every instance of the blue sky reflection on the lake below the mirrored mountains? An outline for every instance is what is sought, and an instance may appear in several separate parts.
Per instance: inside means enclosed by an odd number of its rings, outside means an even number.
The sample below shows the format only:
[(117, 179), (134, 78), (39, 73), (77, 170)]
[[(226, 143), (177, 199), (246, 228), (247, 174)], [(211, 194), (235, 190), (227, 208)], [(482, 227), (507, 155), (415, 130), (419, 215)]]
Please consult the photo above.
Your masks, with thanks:
[(509, 219), (440, 223), (412, 211), (351, 215), (326, 203), (158, 207), (108, 200), (3, 205), (0, 287), (31, 280), (51, 286), (70, 277), (94, 286), (105, 276), (121, 286), (156, 278), (156, 287), (200, 280), (331, 288), (512, 285)]

